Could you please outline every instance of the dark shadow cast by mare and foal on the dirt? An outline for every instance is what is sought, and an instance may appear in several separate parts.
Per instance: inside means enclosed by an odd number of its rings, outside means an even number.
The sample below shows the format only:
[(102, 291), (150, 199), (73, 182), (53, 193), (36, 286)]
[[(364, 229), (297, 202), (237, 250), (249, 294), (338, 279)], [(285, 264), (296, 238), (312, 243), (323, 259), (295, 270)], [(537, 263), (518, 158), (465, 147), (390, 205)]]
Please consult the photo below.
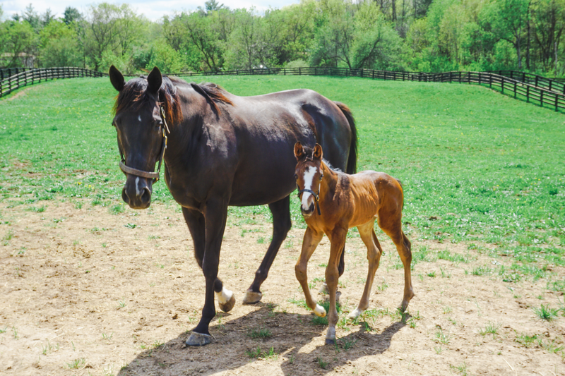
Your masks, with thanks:
[(385, 353), (393, 336), (405, 326), (402, 321), (392, 322), (379, 332), (360, 321), (359, 331), (328, 346), (324, 344), (327, 326), (312, 324), (314, 315), (275, 312), (272, 304), (258, 306), (235, 320), (229, 320), (229, 313), (218, 313), (210, 323), (214, 339), (207, 346), (185, 346), (190, 332), (182, 332), (165, 344), (144, 349), (118, 375), (237, 374), (240, 368), (246, 373), (243, 368), (258, 360), (268, 360), (269, 366), (280, 364), (283, 375), (323, 375), (359, 358)]

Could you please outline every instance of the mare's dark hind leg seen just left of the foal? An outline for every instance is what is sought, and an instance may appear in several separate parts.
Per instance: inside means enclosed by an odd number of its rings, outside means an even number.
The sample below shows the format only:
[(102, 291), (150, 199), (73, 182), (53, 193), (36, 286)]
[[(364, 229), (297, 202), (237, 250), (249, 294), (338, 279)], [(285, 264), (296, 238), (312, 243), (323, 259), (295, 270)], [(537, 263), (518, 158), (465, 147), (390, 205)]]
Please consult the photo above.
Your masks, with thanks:
[(285, 241), (287, 233), (292, 226), (290, 221), (290, 195), (283, 198), (283, 200), (269, 204), (269, 209), (273, 213), (273, 241), (270, 242), (267, 253), (255, 272), (253, 283), (245, 293), (244, 304), (253, 304), (261, 300), (261, 284), (267, 279), (270, 265), (273, 265), (280, 245)]

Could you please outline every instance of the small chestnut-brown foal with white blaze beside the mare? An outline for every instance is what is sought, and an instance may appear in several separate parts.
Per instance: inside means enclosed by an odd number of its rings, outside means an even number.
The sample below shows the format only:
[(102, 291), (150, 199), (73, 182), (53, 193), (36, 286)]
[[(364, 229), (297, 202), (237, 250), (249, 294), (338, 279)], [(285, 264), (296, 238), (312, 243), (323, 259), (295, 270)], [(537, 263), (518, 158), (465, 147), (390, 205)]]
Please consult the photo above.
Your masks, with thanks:
[(330, 294), (326, 344), (335, 344), (335, 324), (338, 322), (335, 292), (340, 277), (338, 260), (343, 253), (347, 231), (352, 227), (357, 227), (363, 243), (367, 246), (369, 272), (361, 301), (347, 317), (355, 319), (369, 308), (371, 286), (383, 253), (373, 229), (375, 219), (378, 219), (379, 227), (384, 233), (391, 237), (404, 265), (404, 297), (400, 309), (406, 310), (414, 296), (410, 276), (410, 241), (402, 231), (403, 189), (396, 178), (383, 172), (362, 171), (348, 175), (330, 169), (322, 160), (322, 147), (317, 144), (312, 149), (302, 147), (302, 144), (297, 142), (295, 157), (295, 179), (302, 201), (300, 209), (308, 225), (302, 242), (302, 253), (295, 267), (296, 277), (302, 285), (309, 308), (314, 310), (316, 315), (325, 316), (326, 310), (316, 304), (310, 294), (307, 267), (316, 246), (323, 234), (326, 234), (331, 243), (330, 260), (326, 267), (326, 284)]

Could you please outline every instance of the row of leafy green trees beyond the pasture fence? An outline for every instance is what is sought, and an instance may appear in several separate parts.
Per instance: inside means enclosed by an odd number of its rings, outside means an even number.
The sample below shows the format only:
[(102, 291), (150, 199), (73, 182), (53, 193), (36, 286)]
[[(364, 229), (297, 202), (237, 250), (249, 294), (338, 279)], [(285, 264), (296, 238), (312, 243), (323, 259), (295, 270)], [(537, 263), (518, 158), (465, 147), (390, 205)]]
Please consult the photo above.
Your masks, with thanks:
[(126, 73), (340, 66), (391, 71), (514, 69), (565, 75), (565, 0), (301, 0), (258, 13), (209, 0), (153, 22), (129, 4), (30, 4), (6, 19), (0, 66)]

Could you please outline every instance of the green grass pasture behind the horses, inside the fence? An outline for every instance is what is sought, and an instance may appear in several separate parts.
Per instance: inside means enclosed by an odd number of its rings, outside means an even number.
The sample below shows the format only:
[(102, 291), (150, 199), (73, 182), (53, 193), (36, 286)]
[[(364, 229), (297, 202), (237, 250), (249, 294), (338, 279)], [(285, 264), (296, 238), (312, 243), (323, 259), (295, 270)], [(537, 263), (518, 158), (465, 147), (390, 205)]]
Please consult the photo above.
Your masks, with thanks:
[[(358, 170), (384, 171), (403, 182), (410, 238), (465, 241), (494, 257), (514, 257), (512, 270), (499, 272), (509, 281), (512, 275), (543, 277), (548, 265), (565, 265), (563, 114), (455, 83), (194, 80), (213, 81), (236, 95), (304, 87), (343, 102), (359, 130)], [(0, 200), (37, 208), (49, 200), (86, 198), (121, 211), (124, 176), (110, 114), (115, 94), (107, 78), (81, 78), (0, 99)], [(172, 201), (165, 184), (157, 183), (153, 200)], [(293, 201), (295, 225), (304, 226), (297, 208)], [(230, 224), (248, 221), (251, 212), (269, 217), (266, 207), (234, 208)], [(9, 226), (3, 214), (0, 224)]]

